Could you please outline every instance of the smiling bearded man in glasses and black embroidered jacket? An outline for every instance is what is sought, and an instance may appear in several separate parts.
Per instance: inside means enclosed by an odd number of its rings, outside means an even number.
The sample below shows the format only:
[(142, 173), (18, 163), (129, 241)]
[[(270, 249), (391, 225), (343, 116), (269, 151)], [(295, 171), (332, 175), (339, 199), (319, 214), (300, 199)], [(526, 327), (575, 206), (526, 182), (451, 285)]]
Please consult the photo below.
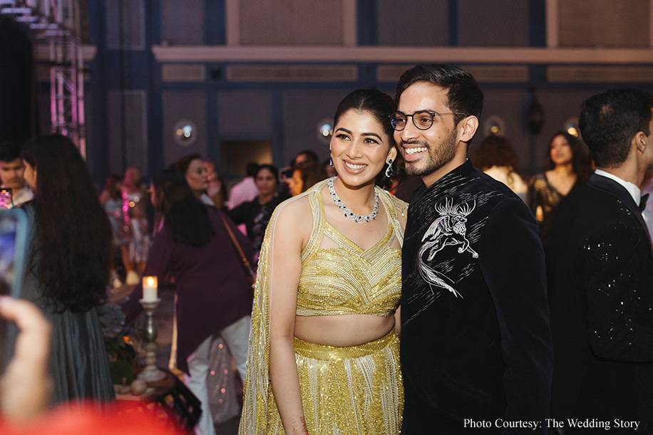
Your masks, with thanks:
[(552, 348), (544, 253), (528, 207), (475, 169), (483, 93), (449, 65), (417, 65), (391, 116), (424, 187), (403, 244), (402, 434), (545, 434)]

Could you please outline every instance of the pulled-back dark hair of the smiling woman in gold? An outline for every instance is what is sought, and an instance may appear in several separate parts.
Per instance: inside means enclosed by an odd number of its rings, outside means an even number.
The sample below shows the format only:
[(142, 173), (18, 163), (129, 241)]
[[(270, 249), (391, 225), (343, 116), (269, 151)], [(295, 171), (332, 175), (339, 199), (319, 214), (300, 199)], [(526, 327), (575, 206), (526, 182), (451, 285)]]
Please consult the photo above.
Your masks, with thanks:
[(347, 110), (358, 110), (359, 112), (370, 112), (379, 124), (383, 126), (384, 132), (390, 138), (390, 146), (394, 147), (394, 129), (390, 124), (390, 115), (397, 110), (397, 105), (390, 95), (376, 89), (359, 89), (347, 95), (338, 105), (334, 115), (334, 127), (340, 117)]

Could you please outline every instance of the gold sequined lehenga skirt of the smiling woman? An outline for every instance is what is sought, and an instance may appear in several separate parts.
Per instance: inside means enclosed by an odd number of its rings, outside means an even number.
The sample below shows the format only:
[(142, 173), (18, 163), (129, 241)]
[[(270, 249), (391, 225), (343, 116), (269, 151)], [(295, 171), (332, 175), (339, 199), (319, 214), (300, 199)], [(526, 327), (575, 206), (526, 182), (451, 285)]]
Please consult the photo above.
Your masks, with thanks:
[[(403, 383), (399, 337), (351, 347), (316, 345), (295, 338), (299, 388), (309, 434), (399, 434)], [(284, 434), (271, 397), (268, 434)]]

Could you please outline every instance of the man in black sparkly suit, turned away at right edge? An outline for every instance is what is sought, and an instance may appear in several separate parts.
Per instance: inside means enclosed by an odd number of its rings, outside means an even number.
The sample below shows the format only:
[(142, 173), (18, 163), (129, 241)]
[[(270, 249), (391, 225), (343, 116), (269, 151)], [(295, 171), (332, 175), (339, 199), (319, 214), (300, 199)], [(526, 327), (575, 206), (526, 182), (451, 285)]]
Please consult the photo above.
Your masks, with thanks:
[(560, 208), (551, 257), (551, 417), (567, 434), (653, 431), (653, 253), (639, 191), (652, 110), (636, 89), (582, 104), (597, 170)]

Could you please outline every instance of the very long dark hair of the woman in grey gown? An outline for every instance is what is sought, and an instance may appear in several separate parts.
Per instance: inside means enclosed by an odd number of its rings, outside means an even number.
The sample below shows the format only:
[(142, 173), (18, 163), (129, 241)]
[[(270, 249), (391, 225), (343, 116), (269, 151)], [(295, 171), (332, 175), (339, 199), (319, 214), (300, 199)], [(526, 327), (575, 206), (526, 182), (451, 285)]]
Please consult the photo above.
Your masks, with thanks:
[(106, 297), (112, 232), (86, 163), (61, 135), (37, 137), (22, 157), (37, 171), (29, 271), (58, 310), (90, 310)]

